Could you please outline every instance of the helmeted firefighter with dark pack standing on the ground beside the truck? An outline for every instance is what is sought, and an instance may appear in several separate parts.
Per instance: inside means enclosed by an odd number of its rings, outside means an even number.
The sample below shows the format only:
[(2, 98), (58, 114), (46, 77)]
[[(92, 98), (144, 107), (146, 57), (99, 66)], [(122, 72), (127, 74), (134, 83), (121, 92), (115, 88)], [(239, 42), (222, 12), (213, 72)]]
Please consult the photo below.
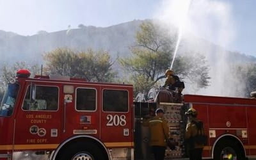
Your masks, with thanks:
[[(204, 125), (196, 118), (197, 111), (193, 108), (188, 109), (185, 113), (188, 116), (188, 124), (186, 126), (185, 141), (188, 149), (189, 160), (201, 160), (204, 148), (204, 142), (197, 143), (195, 136), (205, 135)], [(198, 125), (199, 124), (199, 125)]]

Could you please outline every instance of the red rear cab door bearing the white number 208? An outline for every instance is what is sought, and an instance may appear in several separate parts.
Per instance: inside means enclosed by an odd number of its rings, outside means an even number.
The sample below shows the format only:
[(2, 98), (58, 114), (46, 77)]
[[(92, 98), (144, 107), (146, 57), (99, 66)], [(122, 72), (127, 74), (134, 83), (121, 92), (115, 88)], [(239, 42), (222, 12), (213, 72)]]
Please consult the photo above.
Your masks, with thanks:
[[(132, 92), (118, 88), (102, 89), (100, 138), (106, 147), (132, 147)], [(130, 107), (129, 107), (130, 106)]]

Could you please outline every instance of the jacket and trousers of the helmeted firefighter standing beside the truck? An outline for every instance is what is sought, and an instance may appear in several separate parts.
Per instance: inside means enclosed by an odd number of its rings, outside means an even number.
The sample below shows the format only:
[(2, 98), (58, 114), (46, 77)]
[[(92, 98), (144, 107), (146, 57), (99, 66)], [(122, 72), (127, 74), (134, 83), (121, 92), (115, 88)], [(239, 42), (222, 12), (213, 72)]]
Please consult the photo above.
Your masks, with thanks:
[[(192, 122), (194, 121), (194, 122)], [(191, 122), (188, 122), (186, 126), (186, 133), (185, 133), (185, 140), (189, 143), (189, 138), (192, 138), (198, 134), (198, 129), (196, 127), (196, 123), (198, 123), (198, 120), (196, 118), (193, 118)], [(204, 128), (199, 130), (202, 134), (204, 134)], [(191, 143), (191, 141), (190, 141)], [(190, 160), (201, 160), (202, 159), (202, 152), (204, 148), (204, 144), (188, 144), (189, 149), (189, 159)]]

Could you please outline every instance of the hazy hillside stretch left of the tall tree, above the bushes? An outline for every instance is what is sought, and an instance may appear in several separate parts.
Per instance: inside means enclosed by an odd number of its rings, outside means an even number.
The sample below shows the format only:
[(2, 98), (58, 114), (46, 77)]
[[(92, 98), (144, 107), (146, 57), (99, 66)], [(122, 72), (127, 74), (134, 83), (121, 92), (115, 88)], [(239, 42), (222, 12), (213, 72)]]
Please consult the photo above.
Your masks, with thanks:
[(141, 20), (133, 20), (108, 28), (83, 26), (40, 34), (22, 36), (15, 33), (0, 31), (0, 63), (4, 61), (35, 61), (41, 63), (42, 54), (57, 47), (70, 47), (77, 51), (88, 48), (109, 51), (113, 58), (116, 54), (127, 56), (129, 47), (134, 45), (134, 36), (138, 31)]

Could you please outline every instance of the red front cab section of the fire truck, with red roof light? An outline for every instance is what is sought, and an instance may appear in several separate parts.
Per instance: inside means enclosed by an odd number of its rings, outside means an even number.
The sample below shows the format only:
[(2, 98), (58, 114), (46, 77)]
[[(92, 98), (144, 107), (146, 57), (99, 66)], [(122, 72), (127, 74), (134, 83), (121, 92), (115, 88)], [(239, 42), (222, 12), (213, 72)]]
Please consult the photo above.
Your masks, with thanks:
[(132, 85), (20, 70), (0, 107), (0, 159), (134, 159)]

